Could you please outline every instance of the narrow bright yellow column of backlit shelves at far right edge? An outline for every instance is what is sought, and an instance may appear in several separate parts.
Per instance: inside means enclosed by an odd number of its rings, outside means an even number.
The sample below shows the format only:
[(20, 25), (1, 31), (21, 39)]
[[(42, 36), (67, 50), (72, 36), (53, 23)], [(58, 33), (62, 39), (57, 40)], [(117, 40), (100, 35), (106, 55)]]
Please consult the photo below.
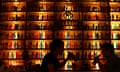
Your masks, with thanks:
[(115, 52), (120, 56), (120, 2), (109, 2), (110, 5), (110, 31), (111, 31), (111, 43), (115, 48)]

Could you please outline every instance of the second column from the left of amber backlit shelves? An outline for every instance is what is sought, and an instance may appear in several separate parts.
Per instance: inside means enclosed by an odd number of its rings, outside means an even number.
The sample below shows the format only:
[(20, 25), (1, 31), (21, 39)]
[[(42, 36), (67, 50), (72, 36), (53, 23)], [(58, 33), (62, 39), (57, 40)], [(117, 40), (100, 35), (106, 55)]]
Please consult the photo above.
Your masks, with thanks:
[(53, 39), (53, 5), (54, 2), (48, 1), (27, 2), (26, 44), (33, 64), (41, 64), (49, 51), (49, 43)]

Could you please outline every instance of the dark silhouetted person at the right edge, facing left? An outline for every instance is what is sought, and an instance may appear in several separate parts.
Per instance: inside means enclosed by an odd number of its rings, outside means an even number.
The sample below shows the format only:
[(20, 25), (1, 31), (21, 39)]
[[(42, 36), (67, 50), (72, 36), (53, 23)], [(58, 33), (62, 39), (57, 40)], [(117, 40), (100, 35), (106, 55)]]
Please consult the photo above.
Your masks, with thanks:
[(110, 43), (101, 45), (103, 61), (100, 61), (100, 56), (95, 58), (94, 62), (99, 64), (102, 72), (120, 72), (120, 58), (115, 55), (114, 47)]

